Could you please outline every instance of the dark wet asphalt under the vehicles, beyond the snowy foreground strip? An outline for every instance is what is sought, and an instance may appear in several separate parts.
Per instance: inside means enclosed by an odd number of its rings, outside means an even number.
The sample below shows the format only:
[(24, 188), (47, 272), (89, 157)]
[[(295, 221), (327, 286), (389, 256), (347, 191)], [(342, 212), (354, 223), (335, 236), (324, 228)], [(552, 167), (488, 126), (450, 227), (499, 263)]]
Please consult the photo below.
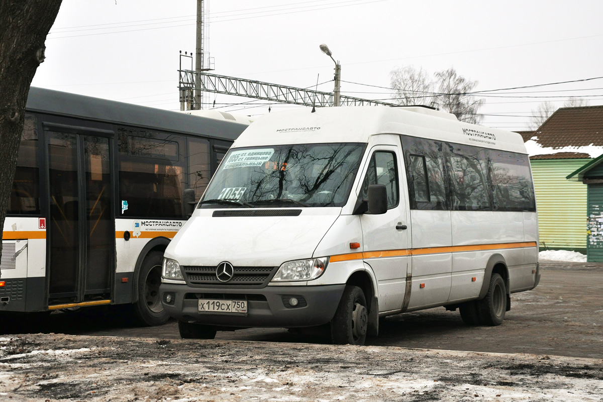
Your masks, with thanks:
[[(367, 345), (494, 353), (533, 353), (603, 359), (603, 264), (542, 263), (533, 291), (511, 295), (511, 310), (498, 327), (469, 327), (443, 307), (390, 316)], [(180, 339), (177, 323), (132, 327), (115, 309), (82, 309), (4, 321), (0, 333), (66, 333)], [(218, 332), (216, 339), (324, 343), (317, 333), (301, 335), (284, 328)]]

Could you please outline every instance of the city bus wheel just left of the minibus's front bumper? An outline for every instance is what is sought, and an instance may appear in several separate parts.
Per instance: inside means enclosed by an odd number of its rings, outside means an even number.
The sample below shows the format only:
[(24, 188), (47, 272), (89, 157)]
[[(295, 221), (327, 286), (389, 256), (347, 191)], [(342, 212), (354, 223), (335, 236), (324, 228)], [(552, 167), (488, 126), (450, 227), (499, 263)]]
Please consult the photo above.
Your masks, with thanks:
[(151, 251), (147, 254), (138, 271), (138, 300), (134, 303), (134, 313), (140, 324), (153, 327), (168, 322), (169, 315), (163, 309), (159, 295), (163, 253)]

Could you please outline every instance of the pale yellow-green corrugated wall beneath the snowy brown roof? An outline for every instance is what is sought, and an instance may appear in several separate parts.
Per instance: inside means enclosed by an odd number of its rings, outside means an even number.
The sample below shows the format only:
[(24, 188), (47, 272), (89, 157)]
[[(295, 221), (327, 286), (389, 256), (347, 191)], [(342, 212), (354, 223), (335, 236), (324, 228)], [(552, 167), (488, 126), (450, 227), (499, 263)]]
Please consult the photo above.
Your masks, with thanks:
[(567, 175), (590, 159), (532, 160), (540, 249), (586, 253), (587, 186)]

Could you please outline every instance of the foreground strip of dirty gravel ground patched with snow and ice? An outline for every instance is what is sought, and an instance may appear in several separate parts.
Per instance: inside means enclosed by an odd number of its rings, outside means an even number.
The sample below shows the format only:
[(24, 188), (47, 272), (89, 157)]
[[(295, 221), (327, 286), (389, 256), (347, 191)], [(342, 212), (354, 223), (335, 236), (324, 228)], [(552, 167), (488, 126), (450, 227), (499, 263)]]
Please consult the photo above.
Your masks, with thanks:
[(603, 401), (603, 360), (399, 347), (28, 334), (2, 401)]

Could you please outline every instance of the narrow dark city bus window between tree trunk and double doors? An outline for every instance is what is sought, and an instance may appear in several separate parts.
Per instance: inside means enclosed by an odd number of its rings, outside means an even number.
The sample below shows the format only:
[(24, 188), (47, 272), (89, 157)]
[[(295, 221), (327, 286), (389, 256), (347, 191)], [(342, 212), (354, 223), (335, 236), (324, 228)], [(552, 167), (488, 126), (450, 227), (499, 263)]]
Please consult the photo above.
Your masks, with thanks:
[(25, 116), (8, 214), (40, 215), (37, 117)]

